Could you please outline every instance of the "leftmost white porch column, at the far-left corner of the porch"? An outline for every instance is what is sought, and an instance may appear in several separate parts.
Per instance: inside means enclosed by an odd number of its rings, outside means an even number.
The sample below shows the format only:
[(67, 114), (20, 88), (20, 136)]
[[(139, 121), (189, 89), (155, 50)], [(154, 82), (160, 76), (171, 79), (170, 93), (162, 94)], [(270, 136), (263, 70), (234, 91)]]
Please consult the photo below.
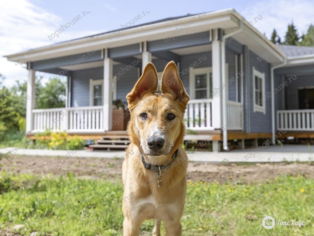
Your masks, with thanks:
[(28, 71), (28, 81), (26, 90), (26, 133), (33, 130), (33, 114), (35, 108), (35, 70)]

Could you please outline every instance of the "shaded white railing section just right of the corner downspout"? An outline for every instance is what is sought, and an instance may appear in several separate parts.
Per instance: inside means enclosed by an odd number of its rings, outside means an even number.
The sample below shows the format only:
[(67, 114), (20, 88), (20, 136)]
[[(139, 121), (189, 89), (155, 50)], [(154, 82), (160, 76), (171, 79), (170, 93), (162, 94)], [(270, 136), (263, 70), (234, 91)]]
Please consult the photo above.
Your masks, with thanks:
[(243, 104), (227, 101), (227, 129), (243, 130)]

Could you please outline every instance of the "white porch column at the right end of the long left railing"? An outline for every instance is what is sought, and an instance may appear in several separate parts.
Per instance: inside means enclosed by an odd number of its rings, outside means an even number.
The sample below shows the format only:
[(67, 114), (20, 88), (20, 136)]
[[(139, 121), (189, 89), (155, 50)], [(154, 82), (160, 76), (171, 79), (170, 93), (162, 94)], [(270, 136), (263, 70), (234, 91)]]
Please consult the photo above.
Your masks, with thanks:
[[(106, 50), (107, 51), (107, 50)], [(113, 60), (107, 57), (105, 53), (104, 59), (104, 93), (103, 93), (103, 119), (104, 130), (109, 131), (112, 128), (112, 76), (113, 76)]]

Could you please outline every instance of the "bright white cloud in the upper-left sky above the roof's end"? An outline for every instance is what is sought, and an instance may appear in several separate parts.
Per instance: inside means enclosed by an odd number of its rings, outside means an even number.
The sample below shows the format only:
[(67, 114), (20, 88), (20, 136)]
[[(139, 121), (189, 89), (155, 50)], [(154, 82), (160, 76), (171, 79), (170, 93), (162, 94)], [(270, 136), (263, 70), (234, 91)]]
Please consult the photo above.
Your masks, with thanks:
[[(28, 71), (24, 68), (25, 65), (9, 62), (3, 55), (96, 33), (68, 28), (59, 38), (49, 40), (48, 34), (55, 32), (61, 24), (66, 24), (73, 18), (62, 19), (27, 0), (1, 0), (0, 9), (0, 73), (7, 78), (4, 81), (5, 86), (12, 86), (16, 80), (26, 80)], [(79, 24), (79, 21), (76, 24)]]

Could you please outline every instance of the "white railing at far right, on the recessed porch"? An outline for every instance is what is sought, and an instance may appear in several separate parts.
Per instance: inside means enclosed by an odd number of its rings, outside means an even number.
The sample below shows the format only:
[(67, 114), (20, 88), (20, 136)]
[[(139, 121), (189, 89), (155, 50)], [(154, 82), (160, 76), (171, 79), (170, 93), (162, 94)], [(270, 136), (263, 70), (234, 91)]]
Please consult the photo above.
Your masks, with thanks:
[(314, 109), (278, 110), (277, 129), (286, 131), (314, 131)]

